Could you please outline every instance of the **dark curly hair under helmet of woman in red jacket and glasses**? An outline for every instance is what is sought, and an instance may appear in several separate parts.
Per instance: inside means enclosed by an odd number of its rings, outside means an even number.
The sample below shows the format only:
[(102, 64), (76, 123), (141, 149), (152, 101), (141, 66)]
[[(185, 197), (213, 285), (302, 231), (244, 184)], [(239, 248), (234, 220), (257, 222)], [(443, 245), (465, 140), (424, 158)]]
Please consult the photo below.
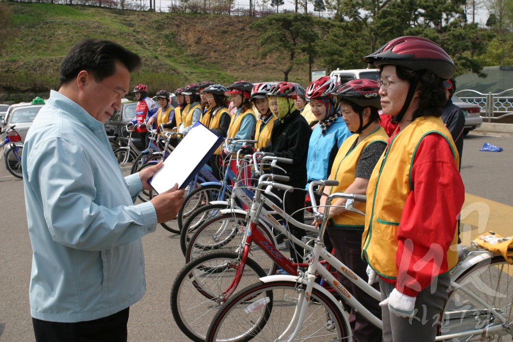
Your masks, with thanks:
[(412, 120), (421, 116), (442, 116), (445, 106), (445, 88), (443, 80), (429, 70), (414, 71), (396, 66), (396, 73), (400, 79), (411, 82), (416, 75), (420, 75), (417, 90), (420, 91), (419, 108), (413, 112)]

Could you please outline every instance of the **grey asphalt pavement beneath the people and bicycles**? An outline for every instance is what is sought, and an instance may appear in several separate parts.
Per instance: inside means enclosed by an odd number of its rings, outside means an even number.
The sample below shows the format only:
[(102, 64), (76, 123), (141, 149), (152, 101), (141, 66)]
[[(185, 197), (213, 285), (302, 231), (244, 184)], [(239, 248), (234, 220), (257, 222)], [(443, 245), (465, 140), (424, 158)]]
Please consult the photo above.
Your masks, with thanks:
[[(479, 152), (484, 142), (505, 150)], [(467, 237), (490, 227), (510, 234), (509, 227), (513, 223), (511, 170), (513, 138), (467, 136), (462, 164), (467, 192), (462, 227)], [(0, 341), (30, 342), (34, 340), (28, 304), (32, 250), (23, 183), (10, 176), (3, 161), (0, 162), (0, 189), (4, 198), (0, 210)], [(172, 321), (169, 309), (171, 284), (184, 263), (179, 240), (159, 228), (146, 235), (143, 242), (147, 291), (130, 309), (129, 341), (187, 341)]]

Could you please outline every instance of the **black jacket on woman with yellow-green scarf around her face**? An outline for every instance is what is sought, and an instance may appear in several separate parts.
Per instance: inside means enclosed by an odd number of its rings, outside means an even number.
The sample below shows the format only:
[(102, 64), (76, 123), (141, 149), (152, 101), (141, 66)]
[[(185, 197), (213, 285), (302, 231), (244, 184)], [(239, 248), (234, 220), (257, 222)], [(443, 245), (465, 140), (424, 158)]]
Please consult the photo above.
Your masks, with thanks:
[[(293, 164), (280, 163), (280, 167), (286, 170), (286, 176), (290, 181), (286, 184), (304, 188), (306, 186), (306, 158), (308, 156), (308, 142), (312, 130), (299, 110), (295, 110), (284, 122), (274, 121), (271, 141), (263, 149), (264, 152), (272, 152), (277, 157), (290, 158)], [(273, 171), (283, 174), (280, 170)]]

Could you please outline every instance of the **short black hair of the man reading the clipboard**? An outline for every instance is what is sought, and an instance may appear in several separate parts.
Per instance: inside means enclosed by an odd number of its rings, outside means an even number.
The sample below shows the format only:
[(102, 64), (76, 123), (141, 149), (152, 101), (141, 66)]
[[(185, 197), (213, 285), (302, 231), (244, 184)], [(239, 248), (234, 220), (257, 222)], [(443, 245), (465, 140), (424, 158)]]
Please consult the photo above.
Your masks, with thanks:
[(96, 39), (84, 39), (68, 52), (61, 65), (61, 86), (74, 79), (82, 70), (91, 73), (94, 81), (101, 82), (116, 72), (115, 63), (120, 62), (129, 72), (141, 66), (141, 58), (119, 44)]

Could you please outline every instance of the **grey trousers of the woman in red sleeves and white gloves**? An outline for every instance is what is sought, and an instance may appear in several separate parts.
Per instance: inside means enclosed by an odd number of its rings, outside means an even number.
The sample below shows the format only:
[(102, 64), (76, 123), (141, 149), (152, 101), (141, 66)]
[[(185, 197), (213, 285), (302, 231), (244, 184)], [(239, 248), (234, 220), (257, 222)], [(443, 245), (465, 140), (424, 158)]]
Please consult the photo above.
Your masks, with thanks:
[[(395, 288), (393, 284), (380, 280), (381, 298), (388, 298)], [(399, 317), (390, 313), (388, 306), (381, 308), (383, 317), (384, 342), (432, 342), (437, 336), (440, 315), (447, 301), (447, 289), (450, 285), (449, 274), (435, 278), (433, 284), (428, 286), (417, 296), (415, 301), (415, 316), (411, 318)]]

